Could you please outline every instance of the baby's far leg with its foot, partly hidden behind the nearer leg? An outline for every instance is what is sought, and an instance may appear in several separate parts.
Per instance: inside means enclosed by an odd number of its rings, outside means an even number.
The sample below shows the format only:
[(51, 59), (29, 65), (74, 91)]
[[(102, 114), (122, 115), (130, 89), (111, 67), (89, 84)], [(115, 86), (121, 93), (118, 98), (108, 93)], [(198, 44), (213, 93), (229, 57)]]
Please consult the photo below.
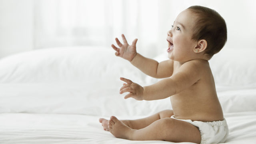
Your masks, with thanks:
[[(146, 118), (141, 118), (137, 120), (121, 120), (126, 126), (139, 130), (141, 128), (145, 128), (146, 126), (152, 124), (152, 122), (159, 120), (161, 118), (170, 118), (173, 114), (172, 110), (163, 110), (161, 112), (158, 112), (156, 114), (153, 114), (152, 116), (148, 116)], [(100, 123), (102, 123), (102, 126), (104, 130), (109, 131), (108, 129), (108, 121), (104, 118), (99, 119)]]

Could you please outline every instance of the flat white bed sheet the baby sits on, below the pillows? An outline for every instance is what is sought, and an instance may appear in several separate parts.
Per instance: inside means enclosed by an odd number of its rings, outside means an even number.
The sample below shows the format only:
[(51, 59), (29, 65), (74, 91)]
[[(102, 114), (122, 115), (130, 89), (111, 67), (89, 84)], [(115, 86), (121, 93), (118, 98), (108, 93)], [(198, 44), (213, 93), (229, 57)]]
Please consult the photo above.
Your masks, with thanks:
[[(255, 144), (256, 112), (224, 114), (228, 126), (228, 144)], [(118, 117), (118, 116), (117, 116)], [(129, 117), (129, 119), (143, 116)], [(78, 114), (0, 114), (0, 143), (5, 144), (163, 144), (164, 141), (130, 141), (115, 138), (104, 131), (99, 116)], [(126, 119), (128, 117), (119, 116)], [(183, 142), (182, 144), (192, 144)]]

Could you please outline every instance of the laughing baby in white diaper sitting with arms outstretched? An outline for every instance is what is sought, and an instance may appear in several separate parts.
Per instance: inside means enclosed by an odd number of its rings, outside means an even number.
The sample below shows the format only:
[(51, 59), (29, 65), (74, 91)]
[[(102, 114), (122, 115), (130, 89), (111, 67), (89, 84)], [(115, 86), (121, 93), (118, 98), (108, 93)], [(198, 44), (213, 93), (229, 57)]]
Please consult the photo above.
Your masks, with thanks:
[(165, 140), (217, 144), (225, 142), (228, 125), (216, 94), (208, 60), (227, 40), (225, 20), (210, 8), (191, 6), (182, 11), (167, 32), (169, 60), (158, 63), (136, 52), (135, 39), (129, 45), (122, 34), (120, 48), (112, 44), (116, 56), (129, 60), (145, 74), (165, 78), (150, 86), (140, 86), (126, 78), (120, 94), (136, 100), (170, 97), (173, 110), (164, 110), (138, 120), (100, 118), (104, 130), (128, 140)]

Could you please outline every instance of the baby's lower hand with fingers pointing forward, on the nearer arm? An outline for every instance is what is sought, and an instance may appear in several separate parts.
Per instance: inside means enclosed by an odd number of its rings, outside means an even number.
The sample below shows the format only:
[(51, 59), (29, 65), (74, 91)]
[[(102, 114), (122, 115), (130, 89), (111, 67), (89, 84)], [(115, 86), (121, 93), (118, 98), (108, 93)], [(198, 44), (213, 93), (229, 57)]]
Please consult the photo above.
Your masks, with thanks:
[(124, 96), (124, 99), (134, 98), (136, 100), (143, 100), (144, 89), (142, 86), (140, 86), (126, 78), (121, 77), (120, 80), (127, 83), (127, 84), (123, 84), (123, 86), (120, 88), (120, 94), (122, 94), (124, 92), (130, 92), (129, 94)]

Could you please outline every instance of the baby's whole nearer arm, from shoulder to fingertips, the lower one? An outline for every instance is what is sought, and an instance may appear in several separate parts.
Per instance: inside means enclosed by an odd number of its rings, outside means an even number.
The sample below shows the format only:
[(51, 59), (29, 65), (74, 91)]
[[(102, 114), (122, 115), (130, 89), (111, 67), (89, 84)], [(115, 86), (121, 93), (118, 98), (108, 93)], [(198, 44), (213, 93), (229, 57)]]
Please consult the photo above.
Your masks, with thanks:
[(182, 92), (186, 88), (192, 86), (200, 80), (202, 75), (202, 68), (197, 62), (186, 62), (180, 68), (179, 71), (172, 75), (170, 78), (166, 78), (152, 84), (150, 86), (140, 86), (131, 80), (121, 78), (127, 84), (124, 84), (120, 88), (120, 94), (129, 92), (125, 98), (135, 98), (136, 100), (159, 100), (168, 98), (174, 94)]

